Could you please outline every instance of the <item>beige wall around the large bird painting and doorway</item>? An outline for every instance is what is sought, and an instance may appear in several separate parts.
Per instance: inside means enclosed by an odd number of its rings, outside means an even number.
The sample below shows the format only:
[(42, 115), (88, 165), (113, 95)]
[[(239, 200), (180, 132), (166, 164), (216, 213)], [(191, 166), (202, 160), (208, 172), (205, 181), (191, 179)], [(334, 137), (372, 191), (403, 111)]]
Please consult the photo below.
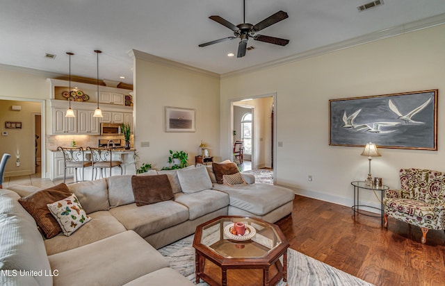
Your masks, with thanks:
[[(277, 93), (277, 183), (301, 194), (352, 205), (352, 180), (363, 180), (368, 160), (362, 148), (329, 146), (329, 99), (445, 89), (445, 25), (371, 42), (221, 80), (221, 150), (228, 157), (229, 99)], [(254, 83), (245, 85), (245, 83)], [(438, 150), (380, 149), (373, 176), (398, 187), (398, 170), (445, 171), (445, 101), (439, 99)], [(307, 176), (314, 180), (309, 182)], [(379, 205), (371, 192), (361, 198)]]

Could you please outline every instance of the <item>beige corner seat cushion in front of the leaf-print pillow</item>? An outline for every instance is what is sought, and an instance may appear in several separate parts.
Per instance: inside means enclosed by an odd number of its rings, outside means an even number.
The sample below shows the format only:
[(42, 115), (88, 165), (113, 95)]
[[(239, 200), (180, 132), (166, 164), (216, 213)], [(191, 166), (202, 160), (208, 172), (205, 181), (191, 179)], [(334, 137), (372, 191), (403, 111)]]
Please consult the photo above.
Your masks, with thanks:
[(75, 249), (76, 247), (123, 233), (126, 230), (118, 219), (106, 210), (92, 212), (88, 216), (91, 217), (90, 222), (76, 230), (69, 237), (59, 233), (51, 239), (45, 239), (44, 247), (47, 249), (47, 255)]

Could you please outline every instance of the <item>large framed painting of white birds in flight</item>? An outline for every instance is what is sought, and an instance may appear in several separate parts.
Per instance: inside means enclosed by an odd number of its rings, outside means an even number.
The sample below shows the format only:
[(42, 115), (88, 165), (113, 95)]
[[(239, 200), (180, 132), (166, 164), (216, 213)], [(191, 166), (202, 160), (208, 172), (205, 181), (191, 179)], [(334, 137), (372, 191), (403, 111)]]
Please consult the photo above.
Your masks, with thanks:
[(329, 144), (437, 150), (437, 90), (329, 101)]

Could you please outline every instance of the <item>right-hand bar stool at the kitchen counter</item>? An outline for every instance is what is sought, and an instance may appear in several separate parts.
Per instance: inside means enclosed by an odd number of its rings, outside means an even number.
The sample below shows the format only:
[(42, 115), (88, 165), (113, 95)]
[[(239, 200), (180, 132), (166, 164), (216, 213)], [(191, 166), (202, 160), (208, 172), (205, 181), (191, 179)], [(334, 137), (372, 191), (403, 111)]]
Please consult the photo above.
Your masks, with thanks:
[(96, 170), (96, 179), (97, 179), (97, 169), (100, 169), (99, 178), (106, 177), (106, 169), (110, 169), (111, 176), (111, 168), (120, 167), (120, 174), (122, 175), (122, 162), (118, 160), (113, 160), (113, 152), (110, 148), (94, 148), (94, 147), (86, 147), (87, 150), (91, 151), (91, 163), (92, 163), (92, 174), (91, 180), (94, 180), (94, 174)]

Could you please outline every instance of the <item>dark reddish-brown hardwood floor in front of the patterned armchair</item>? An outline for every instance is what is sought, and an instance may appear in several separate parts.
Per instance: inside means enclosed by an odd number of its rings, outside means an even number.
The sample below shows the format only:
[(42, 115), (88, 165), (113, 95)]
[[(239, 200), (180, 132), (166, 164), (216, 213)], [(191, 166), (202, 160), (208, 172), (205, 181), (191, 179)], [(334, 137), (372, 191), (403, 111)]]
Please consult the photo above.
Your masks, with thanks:
[(389, 218), (357, 214), (343, 205), (296, 196), (292, 215), (276, 223), (291, 249), (375, 285), (445, 285), (445, 233)]

